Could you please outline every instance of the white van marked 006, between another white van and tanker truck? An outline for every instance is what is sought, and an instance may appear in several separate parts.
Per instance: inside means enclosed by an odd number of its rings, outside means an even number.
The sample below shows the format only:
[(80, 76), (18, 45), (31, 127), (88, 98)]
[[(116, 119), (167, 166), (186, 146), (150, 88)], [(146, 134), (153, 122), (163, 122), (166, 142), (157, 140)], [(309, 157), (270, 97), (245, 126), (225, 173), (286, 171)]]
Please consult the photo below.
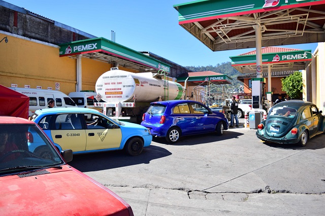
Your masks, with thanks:
[(105, 102), (103, 100), (97, 101), (95, 98), (96, 95), (97, 93), (93, 91), (79, 91), (69, 93), (69, 97), (71, 97), (71, 99), (75, 101), (78, 107), (91, 108), (102, 111), (101, 107), (95, 107), (93, 105), (94, 102)]

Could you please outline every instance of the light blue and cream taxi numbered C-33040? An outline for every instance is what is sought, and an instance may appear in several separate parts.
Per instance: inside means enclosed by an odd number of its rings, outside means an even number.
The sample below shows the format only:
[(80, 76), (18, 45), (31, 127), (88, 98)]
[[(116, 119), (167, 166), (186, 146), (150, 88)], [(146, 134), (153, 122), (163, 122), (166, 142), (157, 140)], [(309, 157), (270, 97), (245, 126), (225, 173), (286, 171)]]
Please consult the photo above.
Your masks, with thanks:
[[(74, 154), (124, 150), (136, 156), (152, 141), (146, 127), (114, 121), (93, 109), (43, 109), (36, 111), (31, 120), (44, 130), (59, 151), (71, 149)], [(38, 142), (37, 137), (29, 136), (30, 140)], [(44, 157), (50, 158), (47, 154), (44, 151)]]

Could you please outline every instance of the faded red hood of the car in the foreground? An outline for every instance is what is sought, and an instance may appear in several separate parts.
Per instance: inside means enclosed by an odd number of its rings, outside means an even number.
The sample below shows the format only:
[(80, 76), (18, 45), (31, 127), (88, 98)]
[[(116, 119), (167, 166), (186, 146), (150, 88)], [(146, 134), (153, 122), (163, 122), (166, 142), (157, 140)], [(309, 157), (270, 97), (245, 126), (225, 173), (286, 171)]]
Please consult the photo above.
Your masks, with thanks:
[(0, 177), (0, 214), (133, 215), (115, 193), (69, 165), (62, 167), (41, 175)]

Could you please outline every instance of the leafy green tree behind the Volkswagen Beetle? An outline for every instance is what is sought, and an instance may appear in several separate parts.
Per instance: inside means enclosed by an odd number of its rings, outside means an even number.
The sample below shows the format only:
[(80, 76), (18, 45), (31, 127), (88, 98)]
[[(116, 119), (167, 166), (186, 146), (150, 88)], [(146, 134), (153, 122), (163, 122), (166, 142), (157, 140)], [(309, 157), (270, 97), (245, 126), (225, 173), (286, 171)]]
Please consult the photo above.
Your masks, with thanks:
[(281, 79), (282, 91), (291, 99), (301, 99), (303, 94), (303, 76), (299, 71), (295, 71), (294, 74), (286, 78)]

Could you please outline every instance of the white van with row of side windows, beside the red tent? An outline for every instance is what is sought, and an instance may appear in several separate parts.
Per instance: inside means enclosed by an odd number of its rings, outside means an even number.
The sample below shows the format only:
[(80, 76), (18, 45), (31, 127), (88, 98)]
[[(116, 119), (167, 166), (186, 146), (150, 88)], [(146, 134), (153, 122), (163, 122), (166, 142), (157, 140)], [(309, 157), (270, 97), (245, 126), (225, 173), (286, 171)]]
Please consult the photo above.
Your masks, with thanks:
[(68, 95), (60, 91), (16, 87), (10, 89), (29, 97), (29, 116), (32, 116), (37, 110), (47, 108), (47, 103), (50, 100), (55, 101), (54, 107), (77, 107)]

